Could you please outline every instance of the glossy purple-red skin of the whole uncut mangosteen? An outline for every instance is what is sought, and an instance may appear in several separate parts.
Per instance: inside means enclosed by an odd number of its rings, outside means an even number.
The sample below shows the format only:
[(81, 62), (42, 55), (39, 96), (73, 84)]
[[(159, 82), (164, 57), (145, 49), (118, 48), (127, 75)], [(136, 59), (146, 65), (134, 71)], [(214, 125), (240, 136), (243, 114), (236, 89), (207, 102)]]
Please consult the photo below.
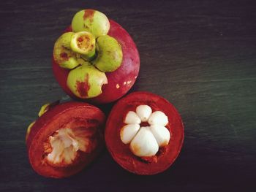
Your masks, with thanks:
[[(72, 31), (72, 28), (67, 28), (66, 32)], [(127, 31), (124, 30), (118, 23), (110, 20), (110, 31), (108, 35), (114, 37), (119, 44), (123, 52), (123, 60), (121, 66), (114, 72), (105, 73), (108, 78), (108, 84), (102, 86), (102, 94), (92, 99), (83, 99), (83, 101), (89, 101), (91, 103), (103, 104), (116, 101), (124, 96), (132, 85), (135, 83), (136, 78), (140, 70), (140, 57), (132, 37), (129, 36)], [(67, 87), (67, 76), (69, 69), (64, 69), (54, 61), (53, 58), (53, 74), (56, 80), (61, 85), (61, 88), (72, 98), (80, 99), (75, 96)], [(126, 82), (126, 83), (124, 83)], [(125, 85), (124, 85), (125, 84)]]

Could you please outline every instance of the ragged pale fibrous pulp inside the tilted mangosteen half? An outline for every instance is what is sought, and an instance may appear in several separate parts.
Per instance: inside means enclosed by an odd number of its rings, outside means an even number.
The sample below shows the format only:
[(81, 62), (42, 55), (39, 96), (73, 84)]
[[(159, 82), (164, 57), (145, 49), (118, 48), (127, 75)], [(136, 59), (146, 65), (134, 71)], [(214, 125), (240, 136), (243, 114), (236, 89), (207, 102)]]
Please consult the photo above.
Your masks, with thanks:
[(72, 130), (61, 128), (50, 136), (51, 153), (47, 155), (48, 161), (53, 164), (72, 164), (78, 150), (86, 152), (89, 147), (89, 131), (86, 129)]

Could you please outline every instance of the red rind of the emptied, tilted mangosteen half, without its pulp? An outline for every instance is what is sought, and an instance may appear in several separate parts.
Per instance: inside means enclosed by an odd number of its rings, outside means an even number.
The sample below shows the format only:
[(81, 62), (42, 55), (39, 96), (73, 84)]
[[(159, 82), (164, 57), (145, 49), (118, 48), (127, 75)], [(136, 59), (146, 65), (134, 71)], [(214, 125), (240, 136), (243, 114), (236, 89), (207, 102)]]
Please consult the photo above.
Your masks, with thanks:
[[(57, 131), (65, 123), (77, 118), (79, 120), (90, 120), (97, 126), (97, 147), (91, 153), (79, 153), (79, 160), (75, 164), (66, 167), (50, 166), (47, 161), (44, 161), (42, 155), (44, 154), (43, 142)], [(37, 119), (34, 126), (31, 127), (29, 137), (26, 141), (27, 151), (29, 155), (29, 162), (35, 172), (44, 177), (69, 177), (72, 174), (80, 172), (86, 165), (91, 163), (94, 158), (99, 155), (104, 146), (103, 128), (105, 123), (105, 115), (99, 108), (90, 104), (79, 102), (67, 102), (56, 105), (45, 112)], [(85, 123), (85, 126), (87, 123)]]

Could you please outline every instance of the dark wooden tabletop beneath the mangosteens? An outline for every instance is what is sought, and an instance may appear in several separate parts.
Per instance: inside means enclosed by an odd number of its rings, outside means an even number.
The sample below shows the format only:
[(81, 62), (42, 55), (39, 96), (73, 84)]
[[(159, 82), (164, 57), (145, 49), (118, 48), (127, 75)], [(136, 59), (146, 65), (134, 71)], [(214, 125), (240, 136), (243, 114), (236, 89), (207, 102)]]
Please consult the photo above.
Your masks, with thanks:
[[(164, 96), (181, 113), (184, 147), (162, 174), (130, 174), (107, 150), (67, 179), (31, 169), (26, 127), (42, 104), (65, 96), (51, 70), (53, 44), (84, 8), (105, 12), (138, 45), (132, 91)], [(0, 191), (253, 191), (255, 10), (255, 1), (1, 1)]]

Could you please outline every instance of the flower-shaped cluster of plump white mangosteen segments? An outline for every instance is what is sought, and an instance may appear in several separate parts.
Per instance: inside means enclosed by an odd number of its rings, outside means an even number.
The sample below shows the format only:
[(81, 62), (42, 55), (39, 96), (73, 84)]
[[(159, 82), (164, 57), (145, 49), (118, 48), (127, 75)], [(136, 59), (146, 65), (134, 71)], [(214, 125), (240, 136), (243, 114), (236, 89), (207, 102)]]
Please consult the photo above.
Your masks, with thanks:
[[(149, 126), (141, 126), (147, 122)], [(152, 112), (148, 105), (139, 105), (136, 112), (129, 111), (124, 119), (126, 124), (121, 128), (120, 137), (124, 144), (129, 144), (130, 150), (139, 157), (156, 155), (159, 147), (168, 145), (170, 131), (165, 127), (168, 118), (164, 112)]]

